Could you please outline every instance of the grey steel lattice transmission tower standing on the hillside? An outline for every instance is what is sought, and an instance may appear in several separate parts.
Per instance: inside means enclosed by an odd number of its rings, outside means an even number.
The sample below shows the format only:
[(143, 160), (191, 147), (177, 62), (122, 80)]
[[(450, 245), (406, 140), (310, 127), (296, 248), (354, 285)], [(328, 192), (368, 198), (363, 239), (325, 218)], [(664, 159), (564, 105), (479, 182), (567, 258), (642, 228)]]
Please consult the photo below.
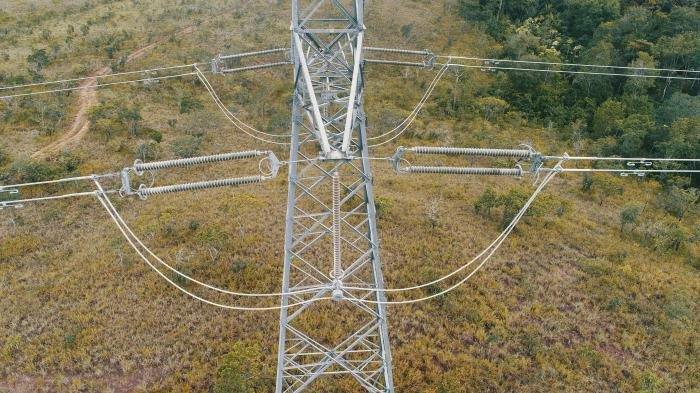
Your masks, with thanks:
[[(292, 112), (277, 392), (352, 376), (393, 392), (372, 173), (363, 110), (363, 0), (293, 0)], [(368, 288), (353, 294), (344, 286)], [(379, 291), (372, 291), (378, 289)], [(326, 381), (327, 382), (327, 381)], [(318, 382), (317, 382), (318, 383)]]

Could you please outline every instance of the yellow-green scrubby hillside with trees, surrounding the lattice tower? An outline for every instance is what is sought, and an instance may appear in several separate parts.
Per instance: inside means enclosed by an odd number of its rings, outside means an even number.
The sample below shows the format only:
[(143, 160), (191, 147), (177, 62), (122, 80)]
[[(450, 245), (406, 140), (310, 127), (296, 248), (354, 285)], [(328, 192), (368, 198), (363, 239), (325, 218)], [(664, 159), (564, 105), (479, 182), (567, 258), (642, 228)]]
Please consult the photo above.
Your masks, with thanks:
[[(372, 46), (700, 67), (694, 0), (385, 0), (366, 8)], [(0, 86), (283, 46), (290, 12), (280, 0), (3, 0)], [(435, 72), (368, 66), (370, 133), (401, 122)], [(241, 118), (279, 133), (290, 124), (290, 79), (284, 70), (211, 77)], [(373, 154), (400, 145), (530, 143), (551, 154), (698, 158), (699, 90), (697, 80), (449, 73), (408, 132)], [(97, 90), (87, 133), (32, 158), (71, 131), (80, 107), (78, 92), (0, 100), (0, 184), (114, 172), (137, 158), (251, 148), (288, 155), (238, 132), (186, 76)], [(159, 174), (157, 182), (254, 170), (224, 164)], [(381, 161), (374, 175), (388, 287), (428, 282), (470, 260), (533, 190), (529, 178), (397, 176)], [(551, 184), (467, 284), (389, 308), (398, 392), (700, 390), (700, 177), (565, 174)], [(79, 189), (90, 184), (23, 196)], [(250, 188), (115, 202), (135, 232), (187, 274), (276, 292), (286, 195), (283, 171)], [(91, 198), (0, 211), (0, 310), (0, 392), (274, 386), (278, 313), (185, 297), (142, 263)], [(319, 325), (332, 318), (319, 316)], [(360, 391), (346, 379), (313, 387)]]

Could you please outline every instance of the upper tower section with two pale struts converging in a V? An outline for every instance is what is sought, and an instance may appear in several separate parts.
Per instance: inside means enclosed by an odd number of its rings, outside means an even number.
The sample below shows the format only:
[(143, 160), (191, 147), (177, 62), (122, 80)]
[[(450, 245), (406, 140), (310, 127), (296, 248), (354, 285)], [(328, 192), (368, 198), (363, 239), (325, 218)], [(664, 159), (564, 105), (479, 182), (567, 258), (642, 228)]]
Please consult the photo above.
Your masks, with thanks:
[(304, 127), (325, 157), (349, 156), (357, 151), (364, 2), (295, 0), (292, 7), (292, 59)]

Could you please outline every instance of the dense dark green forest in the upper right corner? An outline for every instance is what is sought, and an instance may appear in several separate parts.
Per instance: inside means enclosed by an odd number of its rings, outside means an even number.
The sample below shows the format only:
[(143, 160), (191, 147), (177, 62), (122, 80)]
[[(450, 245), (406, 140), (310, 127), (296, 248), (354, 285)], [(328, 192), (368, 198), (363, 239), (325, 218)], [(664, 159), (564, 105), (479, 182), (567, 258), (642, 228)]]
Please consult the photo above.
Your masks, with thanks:
[[(700, 64), (697, 1), (460, 0), (458, 12), (498, 41), (496, 58), (681, 70)], [(698, 91), (697, 79), (513, 72), (489, 93), (561, 128), (572, 143), (589, 138), (594, 154), (691, 158), (700, 154)]]

